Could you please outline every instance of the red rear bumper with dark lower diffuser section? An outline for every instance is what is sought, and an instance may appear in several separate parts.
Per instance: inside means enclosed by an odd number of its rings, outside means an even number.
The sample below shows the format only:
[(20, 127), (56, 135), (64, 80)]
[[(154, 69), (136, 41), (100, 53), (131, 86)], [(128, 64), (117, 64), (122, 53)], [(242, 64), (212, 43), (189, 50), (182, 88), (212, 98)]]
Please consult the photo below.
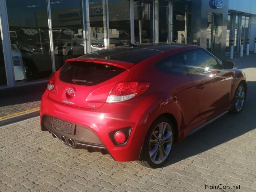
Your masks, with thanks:
[[(108, 104), (98, 109), (73, 107), (50, 99), (48, 91), (45, 91), (40, 110), (41, 130), (50, 131), (60, 140), (61, 135), (72, 139), (75, 142), (74, 148), (91, 145), (92, 148), (103, 149), (106, 151), (103, 153), (108, 152), (116, 161), (138, 160), (148, 130), (148, 125), (144, 123), (144, 117), (140, 115), (140, 112), (124, 106), (124, 104), (116, 107), (115, 112), (111, 108), (111, 105), (108, 106)], [(49, 119), (45, 125), (46, 117)], [(79, 132), (71, 135), (52, 129), (50, 123), (52, 117), (76, 124), (79, 127)], [(108, 133), (125, 127), (132, 127), (129, 140), (125, 146), (117, 147)], [(68, 143), (64, 144), (68, 145)], [(86, 148), (88, 149), (88, 146)]]

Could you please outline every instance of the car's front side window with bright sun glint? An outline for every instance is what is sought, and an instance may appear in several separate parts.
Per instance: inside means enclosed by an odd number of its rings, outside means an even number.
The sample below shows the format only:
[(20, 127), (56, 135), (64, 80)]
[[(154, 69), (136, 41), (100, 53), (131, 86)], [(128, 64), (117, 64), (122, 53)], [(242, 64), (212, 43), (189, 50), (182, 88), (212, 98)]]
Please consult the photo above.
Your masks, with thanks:
[(215, 58), (203, 50), (184, 52), (182, 59), (186, 65), (188, 73), (204, 73), (211, 70), (220, 70), (221, 66)]

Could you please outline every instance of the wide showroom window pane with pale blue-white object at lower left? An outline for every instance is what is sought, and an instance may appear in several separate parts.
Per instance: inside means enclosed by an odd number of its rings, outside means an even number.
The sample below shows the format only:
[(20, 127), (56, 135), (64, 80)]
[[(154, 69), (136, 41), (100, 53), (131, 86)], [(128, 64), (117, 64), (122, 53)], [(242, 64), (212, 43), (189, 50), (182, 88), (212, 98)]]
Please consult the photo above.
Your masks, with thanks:
[(48, 78), (52, 73), (46, 1), (6, 1), (16, 81)]

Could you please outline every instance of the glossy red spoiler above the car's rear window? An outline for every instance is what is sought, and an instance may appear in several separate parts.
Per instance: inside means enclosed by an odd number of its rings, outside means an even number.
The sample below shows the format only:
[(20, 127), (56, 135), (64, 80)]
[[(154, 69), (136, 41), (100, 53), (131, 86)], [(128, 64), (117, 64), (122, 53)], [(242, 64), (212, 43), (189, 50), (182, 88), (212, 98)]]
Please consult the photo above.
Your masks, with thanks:
[(108, 59), (95, 59), (95, 58), (74, 58), (66, 60), (66, 63), (71, 61), (78, 61), (78, 62), (91, 62), (91, 63), (99, 63), (103, 65), (112, 65), (118, 68), (128, 69), (135, 65), (134, 63), (124, 62), (124, 61), (117, 61), (117, 60), (108, 60)]

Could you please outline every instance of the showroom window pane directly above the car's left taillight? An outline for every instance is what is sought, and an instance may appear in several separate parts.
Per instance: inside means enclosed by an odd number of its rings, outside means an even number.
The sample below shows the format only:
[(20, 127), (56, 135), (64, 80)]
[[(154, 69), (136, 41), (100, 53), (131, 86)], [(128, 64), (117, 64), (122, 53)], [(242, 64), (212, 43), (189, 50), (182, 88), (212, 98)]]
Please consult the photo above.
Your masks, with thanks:
[(66, 59), (84, 54), (80, 0), (51, 0), (52, 34), (56, 70)]

